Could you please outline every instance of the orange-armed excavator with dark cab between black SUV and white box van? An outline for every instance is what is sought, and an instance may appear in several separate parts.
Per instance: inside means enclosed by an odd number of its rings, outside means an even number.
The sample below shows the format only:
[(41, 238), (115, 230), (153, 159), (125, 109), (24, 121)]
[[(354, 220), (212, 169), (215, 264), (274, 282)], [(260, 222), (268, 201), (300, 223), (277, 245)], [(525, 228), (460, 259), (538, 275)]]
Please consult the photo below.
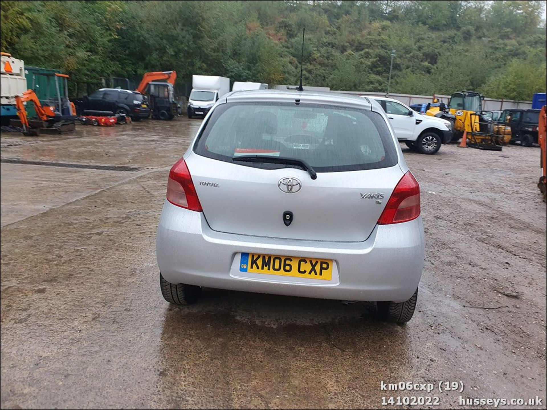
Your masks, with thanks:
[(178, 114), (177, 102), (174, 99), (176, 79), (176, 71), (155, 71), (144, 74), (136, 91), (148, 97), (152, 118), (172, 120)]

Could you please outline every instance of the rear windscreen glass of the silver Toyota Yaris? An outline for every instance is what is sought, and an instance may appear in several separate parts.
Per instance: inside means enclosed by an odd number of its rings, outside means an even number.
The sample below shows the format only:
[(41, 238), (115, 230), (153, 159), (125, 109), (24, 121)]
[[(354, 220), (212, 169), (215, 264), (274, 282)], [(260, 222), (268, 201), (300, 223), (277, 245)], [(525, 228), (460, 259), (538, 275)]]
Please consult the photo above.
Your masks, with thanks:
[(319, 104), (222, 104), (212, 112), (194, 151), (226, 162), (246, 155), (295, 158), (319, 172), (397, 164), (392, 136), (380, 114)]

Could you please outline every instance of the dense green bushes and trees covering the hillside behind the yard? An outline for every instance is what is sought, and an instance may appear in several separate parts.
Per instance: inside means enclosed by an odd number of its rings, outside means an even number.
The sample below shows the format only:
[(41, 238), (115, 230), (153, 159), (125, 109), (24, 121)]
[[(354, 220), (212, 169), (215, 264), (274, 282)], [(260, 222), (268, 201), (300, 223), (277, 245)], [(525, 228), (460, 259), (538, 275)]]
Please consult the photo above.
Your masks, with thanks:
[(1, 47), (77, 81), (177, 70), (333, 90), (529, 100), (545, 91), (541, 1), (9, 1)]

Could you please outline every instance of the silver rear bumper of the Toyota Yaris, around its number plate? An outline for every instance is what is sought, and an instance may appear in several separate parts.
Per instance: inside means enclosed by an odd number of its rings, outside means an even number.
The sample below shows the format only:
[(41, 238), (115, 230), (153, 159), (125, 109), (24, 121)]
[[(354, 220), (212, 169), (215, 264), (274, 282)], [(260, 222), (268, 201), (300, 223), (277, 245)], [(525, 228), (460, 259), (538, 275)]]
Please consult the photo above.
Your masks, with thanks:
[[(333, 280), (241, 274), (240, 252), (333, 259)], [(276, 239), (213, 231), (203, 213), (167, 201), (156, 240), (161, 274), (172, 283), (339, 300), (408, 300), (420, 282), (422, 218), (377, 225), (364, 242)]]

